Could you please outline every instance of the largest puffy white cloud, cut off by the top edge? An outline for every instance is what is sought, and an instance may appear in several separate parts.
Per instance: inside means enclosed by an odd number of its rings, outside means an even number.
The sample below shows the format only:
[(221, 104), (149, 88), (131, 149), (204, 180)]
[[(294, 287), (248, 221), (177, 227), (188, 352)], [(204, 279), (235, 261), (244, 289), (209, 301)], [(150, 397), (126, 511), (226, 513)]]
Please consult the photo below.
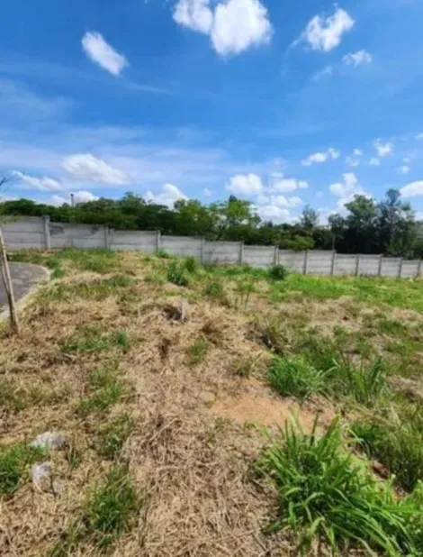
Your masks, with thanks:
[(266, 6), (259, 0), (226, 0), (214, 10), (210, 0), (179, 0), (173, 17), (184, 27), (210, 35), (213, 49), (222, 56), (266, 44), (272, 37)]

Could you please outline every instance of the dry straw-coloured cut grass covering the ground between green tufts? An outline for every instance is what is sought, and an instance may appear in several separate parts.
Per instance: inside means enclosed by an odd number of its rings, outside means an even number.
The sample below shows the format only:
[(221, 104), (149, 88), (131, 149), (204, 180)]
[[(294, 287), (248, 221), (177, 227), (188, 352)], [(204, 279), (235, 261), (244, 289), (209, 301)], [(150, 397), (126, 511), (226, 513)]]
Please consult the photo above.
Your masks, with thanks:
[[(2, 555), (105, 551), (95, 537), (74, 540), (72, 532), (82, 527), (87, 494), (113, 461), (129, 466), (142, 505), (107, 548), (110, 554), (297, 555), (289, 535), (263, 534), (275, 497), (265, 482), (250, 478), (263, 438), (244, 423), (283, 425), (293, 410), (305, 427), (317, 413), (325, 425), (333, 407), (320, 400), (300, 407), (270, 392), (263, 381), (269, 355), (252, 322), (279, 315), (291, 349), (299, 331), (323, 322), (333, 330), (347, 323), (346, 315), (355, 330), (351, 300), (332, 300), (323, 313), (321, 302), (271, 306), (260, 283), (237, 310), (202, 297), (204, 281), (187, 289), (148, 279), (163, 276), (166, 264), (125, 253), (112, 260), (110, 273), (100, 265), (98, 274), (77, 271), (67, 260), (65, 277), (46, 286), (22, 315), (22, 334), (0, 332), (0, 377), (14, 392), (13, 404), (0, 400), (2, 444), (25, 443), (46, 430), (59, 430), (69, 441), (65, 451), (49, 455), (59, 495), (26, 481), (13, 498), (0, 499)], [(130, 280), (115, 281), (116, 273)], [(226, 288), (230, 299), (237, 286)], [(180, 297), (189, 300), (185, 321)], [(81, 350), (87, 327), (101, 339), (124, 333), (129, 342), (101, 342), (100, 348), (94, 342), (94, 349)], [(75, 350), (63, 349), (69, 339)], [(201, 357), (193, 354), (195, 342), (207, 346)], [(93, 383), (94, 370), (108, 368), (118, 370), (121, 396), (78, 411), (101, 388)], [(34, 386), (40, 400), (28, 395)], [(21, 392), (23, 404), (15, 400)], [(121, 415), (128, 416), (130, 431), (112, 452), (102, 452), (99, 435)]]

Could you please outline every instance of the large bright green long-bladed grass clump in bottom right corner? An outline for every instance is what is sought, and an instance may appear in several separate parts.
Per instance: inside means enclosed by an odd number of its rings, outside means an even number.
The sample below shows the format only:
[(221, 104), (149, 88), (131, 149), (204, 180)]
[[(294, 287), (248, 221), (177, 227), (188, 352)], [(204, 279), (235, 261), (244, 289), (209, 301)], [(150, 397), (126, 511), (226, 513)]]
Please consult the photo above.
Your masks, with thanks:
[(277, 516), (269, 531), (292, 531), (305, 551), (317, 538), (332, 555), (354, 547), (389, 557), (421, 554), (419, 493), (398, 502), (390, 483), (374, 479), (347, 452), (338, 421), (321, 436), (316, 426), (304, 434), (286, 425), (284, 441), (271, 440), (257, 461), (277, 491)]

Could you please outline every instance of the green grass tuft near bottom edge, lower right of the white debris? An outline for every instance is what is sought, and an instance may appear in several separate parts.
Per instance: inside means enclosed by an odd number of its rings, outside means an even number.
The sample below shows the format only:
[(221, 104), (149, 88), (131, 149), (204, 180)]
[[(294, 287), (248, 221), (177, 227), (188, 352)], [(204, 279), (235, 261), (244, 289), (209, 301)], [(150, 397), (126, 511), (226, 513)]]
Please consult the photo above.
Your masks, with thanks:
[(115, 464), (102, 483), (97, 483), (86, 498), (83, 522), (85, 534), (92, 536), (100, 549), (109, 547), (130, 527), (141, 501), (130, 478), (128, 467)]

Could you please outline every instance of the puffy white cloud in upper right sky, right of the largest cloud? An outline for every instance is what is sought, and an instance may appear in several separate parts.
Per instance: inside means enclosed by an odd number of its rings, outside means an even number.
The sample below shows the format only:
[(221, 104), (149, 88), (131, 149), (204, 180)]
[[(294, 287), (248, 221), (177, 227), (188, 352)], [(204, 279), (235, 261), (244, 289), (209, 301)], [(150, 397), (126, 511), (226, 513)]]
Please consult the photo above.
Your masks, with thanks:
[(315, 15), (293, 46), (306, 41), (312, 50), (329, 52), (338, 47), (344, 33), (350, 31), (354, 24), (354, 19), (342, 8), (337, 8), (329, 17)]

